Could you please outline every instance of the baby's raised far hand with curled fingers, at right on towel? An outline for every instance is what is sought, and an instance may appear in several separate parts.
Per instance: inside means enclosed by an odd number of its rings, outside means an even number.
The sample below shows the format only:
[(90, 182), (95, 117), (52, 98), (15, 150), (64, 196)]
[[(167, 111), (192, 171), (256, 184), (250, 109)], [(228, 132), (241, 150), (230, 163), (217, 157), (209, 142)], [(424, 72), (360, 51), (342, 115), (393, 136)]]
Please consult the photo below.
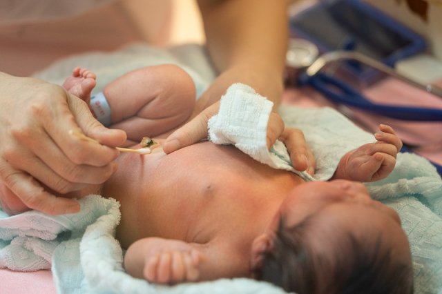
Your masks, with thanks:
[(379, 130), (374, 134), (376, 143), (365, 144), (340, 159), (334, 179), (375, 182), (390, 175), (402, 141), (390, 126), (381, 124)]

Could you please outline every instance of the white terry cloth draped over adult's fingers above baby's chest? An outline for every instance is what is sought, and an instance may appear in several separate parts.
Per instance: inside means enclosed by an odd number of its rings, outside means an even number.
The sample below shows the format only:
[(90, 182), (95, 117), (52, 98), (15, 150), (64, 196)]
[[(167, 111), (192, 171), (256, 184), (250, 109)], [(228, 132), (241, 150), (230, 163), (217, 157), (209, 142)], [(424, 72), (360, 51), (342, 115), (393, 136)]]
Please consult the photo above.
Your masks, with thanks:
[(220, 101), (217, 115), (209, 119), (209, 139), (215, 144), (232, 144), (253, 159), (272, 168), (291, 170), (306, 180), (307, 172), (295, 170), (287, 148), (277, 140), (267, 149), (267, 123), (273, 102), (244, 84), (233, 84)]

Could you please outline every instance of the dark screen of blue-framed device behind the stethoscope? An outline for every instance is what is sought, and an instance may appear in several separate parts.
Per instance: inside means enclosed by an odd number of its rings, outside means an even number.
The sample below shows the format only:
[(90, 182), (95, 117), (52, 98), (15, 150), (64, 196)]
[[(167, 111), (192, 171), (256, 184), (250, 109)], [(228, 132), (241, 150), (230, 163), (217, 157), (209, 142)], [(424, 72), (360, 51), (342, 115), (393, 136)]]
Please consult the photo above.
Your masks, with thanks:
[(323, 50), (352, 49), (379, 61), (412, 43), (351, 1), (320, 3), (292, 17), (290, 26)]

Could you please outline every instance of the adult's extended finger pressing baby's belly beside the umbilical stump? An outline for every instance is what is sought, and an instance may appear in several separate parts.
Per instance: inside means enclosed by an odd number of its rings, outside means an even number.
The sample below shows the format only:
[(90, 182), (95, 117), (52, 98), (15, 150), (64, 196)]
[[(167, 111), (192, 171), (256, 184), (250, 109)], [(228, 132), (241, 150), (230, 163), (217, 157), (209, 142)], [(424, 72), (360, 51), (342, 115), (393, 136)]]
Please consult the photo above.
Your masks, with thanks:
[(200, 114), (194, 117), (187, 124), (175, 130), (163, 144), (164, 153), (169, 154), (180, 148), (195, 144), (202, 139), (206, 139), (208, 135), (207, 122), (218, 113), (220, 108), (219, 102), (204, 109)]

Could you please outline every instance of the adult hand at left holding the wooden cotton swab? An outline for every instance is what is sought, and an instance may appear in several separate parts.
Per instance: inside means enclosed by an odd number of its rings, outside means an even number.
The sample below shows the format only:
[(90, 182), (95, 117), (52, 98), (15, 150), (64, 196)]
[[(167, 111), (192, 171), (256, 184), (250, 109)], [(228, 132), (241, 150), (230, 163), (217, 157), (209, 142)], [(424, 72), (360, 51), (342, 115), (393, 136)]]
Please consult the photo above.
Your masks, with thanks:
[[(7, 213), (28, 208), (75, 213), (66, 197), (101, 184), (115, 171), (121, 130), (104, 128), (81, 99), (60, 86), (0, 72), (0, 204)], [(69, 134), (81, 130), (106, 146)]]

